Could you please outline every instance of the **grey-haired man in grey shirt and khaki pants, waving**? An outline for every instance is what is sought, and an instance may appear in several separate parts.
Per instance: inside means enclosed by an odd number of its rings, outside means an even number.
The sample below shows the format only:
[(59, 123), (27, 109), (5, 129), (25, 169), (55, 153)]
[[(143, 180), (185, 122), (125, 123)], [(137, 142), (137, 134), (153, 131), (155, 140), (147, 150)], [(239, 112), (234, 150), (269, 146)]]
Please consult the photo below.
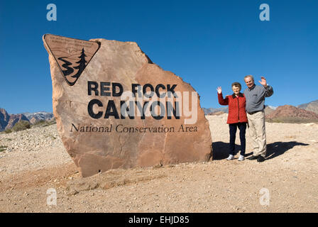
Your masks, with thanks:
[(258, 86), (254, 83), (252, 75), (244, 77), (247, 88), (244, 91), (246, 96), (246, 112), (248, 118), (248, 133), (251, 136), (253, 144), (253, 155), (249, 160), (263, 162), (266, 155), (266, 133), (265, 133), (265, 97), (271, 96), (273, 87), (270, 87), (266, 79), (261, 77)]

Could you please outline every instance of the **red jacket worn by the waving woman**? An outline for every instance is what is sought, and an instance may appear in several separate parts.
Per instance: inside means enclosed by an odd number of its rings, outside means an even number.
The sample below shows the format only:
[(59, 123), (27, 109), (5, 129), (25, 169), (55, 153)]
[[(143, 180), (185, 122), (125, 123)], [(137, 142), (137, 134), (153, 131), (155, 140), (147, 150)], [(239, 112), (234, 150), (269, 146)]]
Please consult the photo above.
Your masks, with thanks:
[(219, 99), (219, 104), (226, 106), (229, 105), (229, 116), (226, 123), (238, 123), (238, 122), (248, 122), (246, 116), (246, 99), (244, 94), (228, 95), (223, 99), (222, 93), (217, 95)]

